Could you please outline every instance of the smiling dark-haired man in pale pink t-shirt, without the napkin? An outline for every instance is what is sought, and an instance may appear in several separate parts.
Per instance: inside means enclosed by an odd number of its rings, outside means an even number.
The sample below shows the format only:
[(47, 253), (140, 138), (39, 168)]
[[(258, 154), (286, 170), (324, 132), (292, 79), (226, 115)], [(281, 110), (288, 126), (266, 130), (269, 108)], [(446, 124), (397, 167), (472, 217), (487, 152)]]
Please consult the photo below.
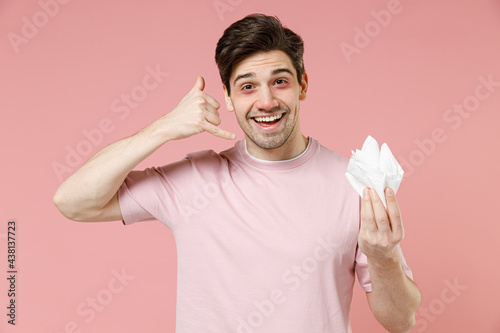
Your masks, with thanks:
[(131, 171), (170, 140), (235, 138), (218, 127), (220, 104), (198, 77), (175, 109), (102, 149), (55, 194), (75, 221), (158, 220), (172, 230), (179, 333), (350, 332), (355, 272), (385, 328), (414, 323), (420, 293), (399, 247), (394, 193), (386, 189), (387, 211), (369, 189), (360, 201), (347, 159), (302, 134), (302, 55), (302, 39), (277, 18), (233, 23), (215, 58), (244, 140)]

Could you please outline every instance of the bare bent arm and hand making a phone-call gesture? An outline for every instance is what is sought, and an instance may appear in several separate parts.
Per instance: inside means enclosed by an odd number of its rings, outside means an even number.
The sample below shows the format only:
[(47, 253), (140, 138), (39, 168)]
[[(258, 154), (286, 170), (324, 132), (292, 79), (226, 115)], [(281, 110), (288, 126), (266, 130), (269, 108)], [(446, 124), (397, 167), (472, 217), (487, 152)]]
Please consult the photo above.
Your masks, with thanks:
[(117, 141), (92, 156), (66, 179), (54, 195), (59, 211), (74, 221), (117, 221), (122, 219), (117, 191), (128, 173), (170, 140), (207, 131), (234, 139), (219, 127), (220, 104), (203, 92), (205, 82), (195, 86), (170, 113), (136, 134)]

